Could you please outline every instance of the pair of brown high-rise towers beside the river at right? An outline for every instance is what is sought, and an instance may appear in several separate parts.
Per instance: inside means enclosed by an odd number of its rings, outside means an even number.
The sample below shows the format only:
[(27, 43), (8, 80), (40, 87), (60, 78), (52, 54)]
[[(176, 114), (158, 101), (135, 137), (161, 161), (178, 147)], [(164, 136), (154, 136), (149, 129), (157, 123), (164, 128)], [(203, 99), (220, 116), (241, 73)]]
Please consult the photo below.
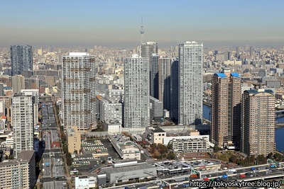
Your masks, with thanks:
[(275, 150), (274, 108), (273, 91), (253, 88), (241, 96), (239, 74), (230, 69), (214, 74), (211, 141), (223, 149), (268, 155)]

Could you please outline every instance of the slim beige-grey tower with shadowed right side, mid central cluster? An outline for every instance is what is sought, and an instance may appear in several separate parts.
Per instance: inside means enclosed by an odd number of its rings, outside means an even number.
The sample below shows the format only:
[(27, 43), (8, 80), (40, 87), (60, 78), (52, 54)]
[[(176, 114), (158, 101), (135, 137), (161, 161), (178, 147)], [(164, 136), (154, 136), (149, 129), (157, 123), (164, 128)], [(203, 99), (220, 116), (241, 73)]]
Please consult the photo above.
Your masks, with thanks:
[(170, 67), (171, 59), (160, 57), (158, 65), (158, 99), (163, 102), (163, 109), (166, 110), (170, 110)]

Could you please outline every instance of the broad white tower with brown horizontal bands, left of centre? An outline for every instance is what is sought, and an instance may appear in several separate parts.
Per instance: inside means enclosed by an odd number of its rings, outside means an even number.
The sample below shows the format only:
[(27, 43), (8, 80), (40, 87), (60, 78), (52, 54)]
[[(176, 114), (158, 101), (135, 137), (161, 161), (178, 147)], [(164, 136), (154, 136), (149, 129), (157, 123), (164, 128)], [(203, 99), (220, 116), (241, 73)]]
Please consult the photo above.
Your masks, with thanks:
[(70, 52), (62, 57), (62, 107), (64, 126), (79, 131), (97, 127), (95, 85), (97, 64), (87, 52)]

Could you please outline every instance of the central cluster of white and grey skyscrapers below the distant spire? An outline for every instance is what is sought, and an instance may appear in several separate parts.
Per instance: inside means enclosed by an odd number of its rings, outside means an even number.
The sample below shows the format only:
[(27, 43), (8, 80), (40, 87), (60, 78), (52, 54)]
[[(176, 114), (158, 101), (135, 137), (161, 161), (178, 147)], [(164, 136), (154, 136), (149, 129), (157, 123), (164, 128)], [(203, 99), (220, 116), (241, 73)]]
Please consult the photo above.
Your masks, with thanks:
[[(141, 44), (140, 57), (136, 55), (124, 59), (125, 127), (149, 125), (150, 106), (146, 98), (149, 95), (160, 100), (163, 109), (170, 111), (170, 118), (178, 123), (200, 124), (202, 122), (202, 43), (180, 43), (179, 58), (175, 61), (168, 57), (160, 57), (156, 52), (158, 52), (157, 43), (146, 42)], [(149, 70), (148, 77), (144, 72), (146, 65)], [(147, 91), (145, 87), (149, 85), (151, 87)]]

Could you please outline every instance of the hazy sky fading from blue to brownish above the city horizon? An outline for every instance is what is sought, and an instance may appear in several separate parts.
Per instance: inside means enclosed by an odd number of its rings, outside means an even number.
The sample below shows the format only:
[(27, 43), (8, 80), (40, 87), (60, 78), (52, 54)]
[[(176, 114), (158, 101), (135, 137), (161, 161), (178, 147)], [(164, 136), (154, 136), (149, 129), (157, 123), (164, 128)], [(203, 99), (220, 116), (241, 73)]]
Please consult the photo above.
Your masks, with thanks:
[(195, 40), (212, 45), (284, 45), (278, 0), (1, 0), (0, 47), (160, 47)]

